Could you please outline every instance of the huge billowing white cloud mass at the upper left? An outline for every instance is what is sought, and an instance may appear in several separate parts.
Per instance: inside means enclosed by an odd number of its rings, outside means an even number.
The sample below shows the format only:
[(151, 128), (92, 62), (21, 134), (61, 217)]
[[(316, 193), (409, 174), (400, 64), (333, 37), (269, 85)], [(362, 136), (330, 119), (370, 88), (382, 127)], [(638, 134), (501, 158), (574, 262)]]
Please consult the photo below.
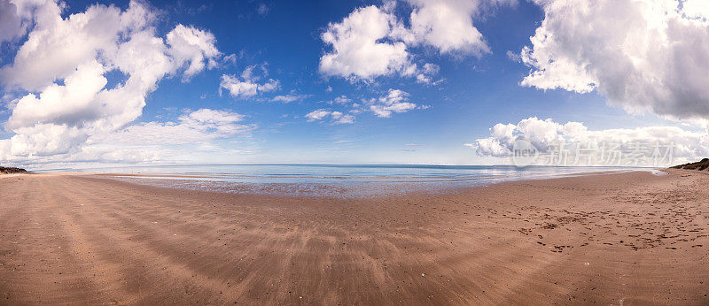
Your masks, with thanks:
[[(90, 135), (108, 134), (135, 120), (145, 96), (166, 76), (199, 73), (220, 53), (214, 35), (178, 25), (163, 39), (150, 7), (125, 11), (101, 4), (63, 18), (54, 1), (13, 2), (30, 11), (33, 27), (12, 63), (0, 68), (5, 88), (27, 94), (11, 103), (0, 159), (76, 152)], [(167, 42), (167, 43), (166, 43)], [(107, 73), (125, 76), (109, 84)]]

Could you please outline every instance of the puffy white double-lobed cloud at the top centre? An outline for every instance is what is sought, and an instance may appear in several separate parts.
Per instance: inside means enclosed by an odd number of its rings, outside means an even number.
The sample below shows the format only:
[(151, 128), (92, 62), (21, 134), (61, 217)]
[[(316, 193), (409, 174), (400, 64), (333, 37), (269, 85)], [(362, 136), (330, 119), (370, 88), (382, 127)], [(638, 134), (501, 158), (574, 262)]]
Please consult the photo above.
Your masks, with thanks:
[(409, 0), (409, 27), (394, 14), (394, 2), (357, 8), (342, 21), (330, 23), (322, 34), (331, 50), (320, 57), (320, 72), (353, 81), (398, 74), (430, 83), (430, 74), (437, 69), (414, 63), (410, 47), (431, 46), (441, 54), (489, 53), (472, 16), (486, 7), (514, 2)]

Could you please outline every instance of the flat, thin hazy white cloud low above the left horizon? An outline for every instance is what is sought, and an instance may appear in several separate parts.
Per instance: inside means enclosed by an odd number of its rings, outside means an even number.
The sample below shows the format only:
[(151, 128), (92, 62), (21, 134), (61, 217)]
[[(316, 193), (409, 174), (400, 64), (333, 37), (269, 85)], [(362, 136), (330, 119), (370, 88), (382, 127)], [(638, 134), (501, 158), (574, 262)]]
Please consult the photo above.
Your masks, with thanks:
[[(33, 155), (5, 159), (35, 168), (52, 168), (85, 164), (133, 164), (166, 162), (214, 161), (214, 154), (231, 150), (222, 148), (216, 140), (236, 137), (248, 139), (253, 124), (242, 124), (244, 116), (232, 111), (200, 109), (186, 110), (175, 121), (151, 121), (127, 126), (108, 134), (92, 134), (81, 146), (74, 147), (70, 154), (53, 156)], [(57, 134), (66, 133), (63, 126), (51, 126), (43, 133), (55, 142), (51, 146), (63, 146)], [(53, 129), (57, 129), (54, 131)], [(69, 132), (70, 133), (70, 132)], [(0, 142), (0, 151), (9, 142)], [(211, 159), (204, 159), (204, 158)]]

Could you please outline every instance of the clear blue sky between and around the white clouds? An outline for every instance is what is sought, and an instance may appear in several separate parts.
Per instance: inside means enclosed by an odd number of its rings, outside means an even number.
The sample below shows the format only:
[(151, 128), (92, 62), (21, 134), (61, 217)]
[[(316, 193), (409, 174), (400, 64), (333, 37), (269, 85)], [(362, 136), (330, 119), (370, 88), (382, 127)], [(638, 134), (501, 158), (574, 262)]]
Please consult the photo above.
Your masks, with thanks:
[[(12, 1), (9, 4), (13, 4)], [(96, 5), (113, 5), (120, 11), (129, 10), (128, 1), (99, 1), (97, 4), (71, 1), (61, 11), (61, 18), (68, 19), (72, 14), (82, 14), (87, 8)], [(167, 37), (166, 34), (178, 25), (212, 34), (214, 47), (219, 51), (214, 61), (218, 63), (211, 65), (208, 60), (213, 58), (204, 53), (204, 62), (210, 64), (189, 80), (181, 77), (183, 74), (180, 73), (168, 73), (166, 77), (160, 78), (154, 88), (145, 89), (145, 105), (135, 119), (121, 121), (121, 124), (100, 132), (97, 132), (97, 128), (87, 127), (86, 120), (82, 123), (69, 123), (69, 126), (80, 126), (80, 129), (88, 132), (84, 132), (86, 135), (83, 137), (74, 137), (78, 141), (74, 138), (67, 140), (73, 144), (66, 148), (60, 145), (62, 149), (43, 154), (40, 152), (42, 146), (48, 144), (32, 142), (39, 146), (35, 148), (40, 148), (34, 151), (18, 150), (18, 145), (11, 148), (7, 144), (6, 147), (14, 153), (0, 157), (12, 164), (39, 167), (75, 163), (146, 162), (504, 164), (504, 159), (480, 154), (476, 150), (476, 146), (479, 146), (475, 144), (476, 140), (491, 137), (490, 128), (498, 123), (516, 125), (520, 120), (532, 117), (551, 119), (559, 125), (569, 121), (580, 122), (589, 131), (630, 131), (648, 126), (674, 126), (682, 129), (680, 134), (694, 133), (698, 134), (697, 137), (705, 134), (705, 117), (702, 113), (674, 114), (672, 111), (660, 110), (659, 102), (652, 101), (647, 102), (646, 109), (641, 112), (628, 111), (626, 101), (632, 99), (614, 96), (607, 89), (610, 86), (606, 85), (608, 80), (603, 79), (604, 73), (593, 76), (596, 88), (590, 92), (574, 90), (566, 86), (565, 81), (552, 86), (556, 88), (544, 85), (549, 84), (549, 81), (542, 85), (521, 84), (533, 71), (549, 73), (552, 69), (541, 64), (535, 65), (529, 59), (520, 59), (526, 46), (534, 51), (543, 47), (531, 42), (530, 37), (541, 27), (545, 10), (551, 12), (555, 9), (550, 5), (545, 7), (529, 1), (499, 1), (476, 9), (468, 18), (471, 27), (482, 34), (482, 43), (489, 49), (489, 52), (482, 54), (465, 51), (462, 47), (460, 50), (446, 52), (442, 49), (444, 47), (420, 39), (417, 39), (418, 42), (406, 42), (408, 63), (417, 65), (417, 73), (425, 64), (438, 67), (435, 73), (429, 75), (431, 80), (428, 83), (417, 81), (415, 77), (401, 72), (370, 78), (356, 75), (343, 77), (327, 73), (320, 66), (321, 57), (333, 50), (333, 46), (323, 42), (322, 36), (330, 30), (332, 24), (343, 22), (358, 8), (373, 5), (380, 11), (386, 11), (389, 10), (386, 9), (387, 5), (391, 5), (393, 9), (386, 13), (400, 21), (402, 27), (412, 28), (409, 14), (412, 11), (423, 13), (425, 10), (425, 5), (416, 4), (416, 1), (411, 4), (405, 1), (151, 1), (142, 5), (156, 16), (152, 27), (156, 29), (155, 36), (160, 39)], [(17, 6), (21, 8), (20, 4)], [(25, 32), (14, 36), (4, 35), (11, 38), (2, 42), (0, 66), (8, 71), (9, 66), (19, 66), (14, 64), (18, 61), (15, 57), (18, 57), (20, 48), (27, 43), (33, 30), (40, 27), (37, 17), (25, 18), (28, 21), (25, 20), (24, 25), (29, 25)], [(33, 19), (37, 26), (32, 26)], [(612, 33), (608, 35), (610, 37)], [(395, 43), (396, 38), (387, 37), (379, 42)], [(120, 44), (121, 38), (116, 38), (115, 43)], [(559, 48), (558, 45), (554, 47)], [(556, 51), (557, 54), (563, 53), (563, 50)], [(93, 57), (99, 62), (108, 61), (102, 58), (100, 52), (89, 59), (93, 60)], [(561, 58), (561, 55), (557, 55), (557, 58)], [(596, 57), (589, 58), (574, 59), (591, 65), (594, 60), (598, 60)], [(186, 63), (192, 63), (190, 60), (185, 59)], [(105, 64), (105, 67), (109, 65)], [(230, 95), (228, 88), (220, 87), (225, 75), (239, 79), (250, 67), (258, 78), (254, 79), (255, 83), (262, 84), (272, 79), (277, 82), (277, 88), (238, 96)], [(598, 64), (593, 70), (588, 69), (597, 73), (603, 72), (604, 67)], [(42, 88), (12, 84), (7, 79), (12, 76), (11, 73), (18, 71), (15, 69), (5, 73), (3, 82), (5, 110), (0, 113), (0, 122), (5, 122), (5, 125), (0, 138), (4, 139), (11, 139), (18, 134), (36, 133), (20, 131), (27, 126), (18, 127), (7, 122), (12, 121), (12, 116), (19, 118), (19, 111), (15, 114), (13, 111), (20, 99), (31, 93), (39, 95), (43, 92)], [(127, 74), (121, 69), (105, 73), (104, 77), (108, 79), (105, 88), (125, 82)], [(58, 76), (51, 82), (64, 85), (62, 78)], [(370, 111), (368, 103), (376, 103), (371, 99), (386, 96), (392, 89), (406, 93), (403, 101), (414, 103), (416, 107), (394, 111), (388, 118)], [(297, 98), (287, 103), (272, 101), (276, 96), (289, 95)], [(332, 103), (339, 96), (347, 96), (347, 103)], [(614, 105), (609, 105), (609, 101)], [(353, 106), (354, 103), (361, 106)], [(700, 99), (699, 103), (706, 101)], [(140, 143), (114, 145), (112, 142), (112, 133), (124, 131), (129, 126), (182, 122), (179, 121), (181, 116), (200, 109), (241, 115), (238, 121), (227, 124), (238, 122), (245, 132), (227, 133), (205, 141), (170, 141), (161, 146), (146, 143), (144, 147), (151, 147), (147, 149), (141, 149)], [(351, 115), (354, 122), (336, 124), (335, 115), (308, 119), (308, 113), (316, 110), (336, 111), (340, 113), (338, 116)], [(51, 121), (52, 125), (59, 124), (56, 117), (45, 117), (42, 120)], [(33, 128), (38, 123), (34, 124)], [(66, 125), (64, 121), (60, 124)], [(213, 130), (205, 131), (209, 133)], [(516, 134), (525, 133), (522, 130), (515, 131)], [(92, 141), (93, 138), (100, 138), (97, 133), (106, 134), (100, 142)], [(555, 133), (562, 134), (560, 130), (555, 130)], [(86, 141), (86, 138), (89, 140)], [(146, 139), (150, 139), (150, 135)], [(473, 145), (466, 146), (466, 143)], [(141, 150), (141, 154), (149, 151), (151, 157), (106, 157), (103, 153), (101, 157), (92, 157), (87, 155), (87, 148), (137, 149)], [(702, 148), (705, 148), (703, 143), (701, 147), (689, 150), (698, 156), (704, 152)], [(171, 153), (163, 155), (163, 150)]]

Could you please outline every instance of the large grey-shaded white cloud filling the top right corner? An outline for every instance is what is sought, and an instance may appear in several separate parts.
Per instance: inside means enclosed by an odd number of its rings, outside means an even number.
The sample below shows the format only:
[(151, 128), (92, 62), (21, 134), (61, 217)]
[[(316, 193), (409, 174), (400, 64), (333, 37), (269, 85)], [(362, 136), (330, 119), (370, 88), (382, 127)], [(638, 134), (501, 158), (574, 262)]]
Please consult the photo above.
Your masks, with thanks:
[(522, 85), (597, 90), (629, 112), (709, 119), (709, 10), (704, 0), (536, 0), (541, 27)]

